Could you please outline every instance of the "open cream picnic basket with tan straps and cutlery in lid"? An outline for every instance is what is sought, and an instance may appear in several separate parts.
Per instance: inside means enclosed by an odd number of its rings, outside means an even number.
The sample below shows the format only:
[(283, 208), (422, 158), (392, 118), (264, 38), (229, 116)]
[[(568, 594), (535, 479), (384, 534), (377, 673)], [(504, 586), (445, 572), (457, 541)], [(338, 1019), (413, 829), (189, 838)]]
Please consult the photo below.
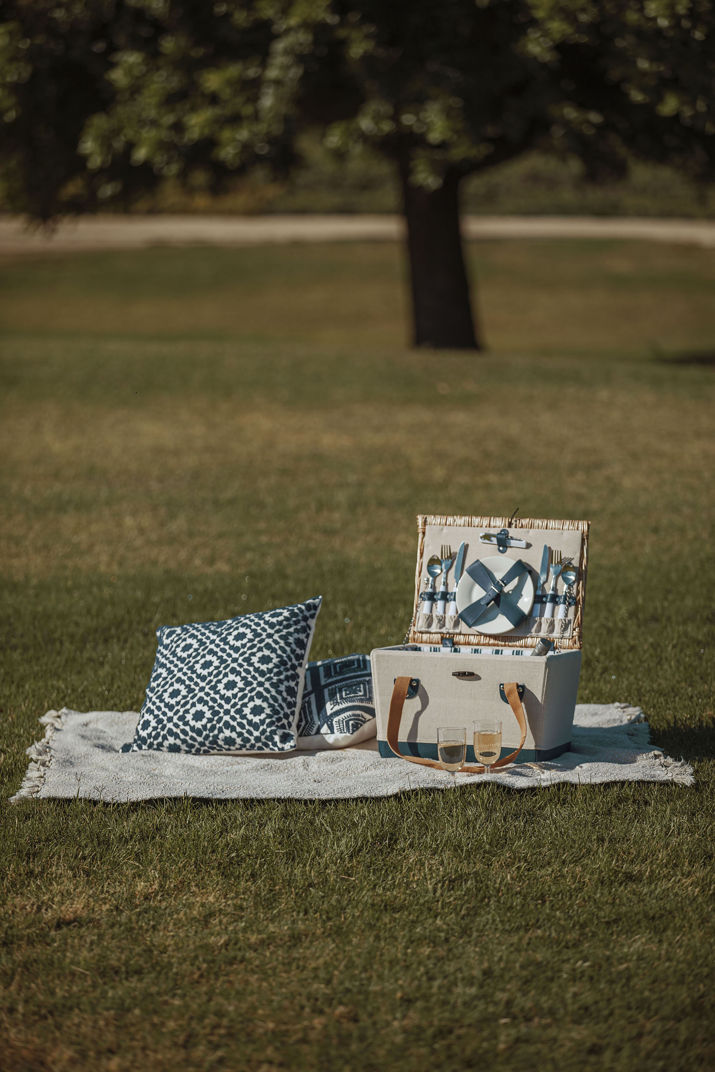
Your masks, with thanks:
[[(495, 766), (517, 758), (520, 762), (548, 761), (567, 751), (581, 670), (589, 522), (420, 515), (417, 534), (414, 613), (405, 642), (371, 653), (379, 755), (438, 766), (437, 729), (463, 726), (470, 742), (473, 720), (482, 717), (503, 720), (502, 753)], [(491, 545), (482, 542), (486, 537), (493, 538)], [(462, 617), (436, 616), (430, 628), (423, 627), (428, 621), (420, 613), (426, 564), (442, 548), (453, 551), (462, 541), (464, 571), (474, 566), (476, 577), (485, 576), (480, 565), (495, 555), (504, 555), (505, 564), (518, 555), (520, 577), (512, 582), (515, 591), (521, 585), (521, 605), (526, 606), (523, 600), (531, 584), (534, 605), (518, 624), (508, 623), (508, 631), (490, 632), (483, 616), (470, 626)], [(547, 595), (539, 584), (539, 569), (545, 546), (562, 560), (571, 559), (578, 568), (572, 584), (556, 579), (551, 585), (556, 602), (546, 612), (557, 607), (561, 617), (555, 613), (543, 616)], [(497, 579), (493, 591), (498, 584)], [(501, 608), (498, 594), (496, 602), (489, 605), (492, 617), (506, 611), (506, 597), (507, 587), (502, 590)], [(470, 617), (467, 611), (462, 613)], [(512, 616), (516, 620), (518, 614)], [(547, 655), (536, 655), (545, 638), (552, 647)], [(466, 763), (464, 771), (483, 770), (475, 765), (468, 743)]]

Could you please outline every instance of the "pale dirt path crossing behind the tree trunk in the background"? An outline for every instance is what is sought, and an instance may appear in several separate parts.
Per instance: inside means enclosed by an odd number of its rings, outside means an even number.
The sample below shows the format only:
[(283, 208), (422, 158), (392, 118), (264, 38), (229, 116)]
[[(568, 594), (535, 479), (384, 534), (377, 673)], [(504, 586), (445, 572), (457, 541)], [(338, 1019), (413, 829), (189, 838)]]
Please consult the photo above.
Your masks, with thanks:
[[(472, 215), (465, 238), (621, 238), (715, 247), (715, 221), (602, 217)], [(0, 253), (68, 253), (147, 245), (263, 245), (271, 242), (394, 241), (399, 215), (94, 215), (51, 236), (0, 217)]]

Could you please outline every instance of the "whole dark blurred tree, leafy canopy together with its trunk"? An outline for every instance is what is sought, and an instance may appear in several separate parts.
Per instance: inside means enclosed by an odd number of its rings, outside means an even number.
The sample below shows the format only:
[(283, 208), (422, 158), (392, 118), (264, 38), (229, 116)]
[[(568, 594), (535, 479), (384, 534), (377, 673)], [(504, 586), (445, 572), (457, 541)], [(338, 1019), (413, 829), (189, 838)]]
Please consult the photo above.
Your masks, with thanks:
[(0, 180), (40, 220), (285, 174), (318, 130), (400, 177), (416, 344), (475, 347), (470, 174), (540, 148), (709, 178), (711, 0), (0, 0)]

